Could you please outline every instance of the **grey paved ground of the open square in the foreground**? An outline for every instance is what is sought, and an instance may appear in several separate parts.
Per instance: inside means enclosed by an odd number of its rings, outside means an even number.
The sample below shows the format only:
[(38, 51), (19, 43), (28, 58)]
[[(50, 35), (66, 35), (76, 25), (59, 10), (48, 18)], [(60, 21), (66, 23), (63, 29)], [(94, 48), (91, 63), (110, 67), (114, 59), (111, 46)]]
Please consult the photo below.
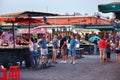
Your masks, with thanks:
[(83, 55), (77, 64), (56, 64), (55, 67), (33, 71), (21, 69), (20, 80), (120, 80), (120, 64), (100, 63), (98, 55)]

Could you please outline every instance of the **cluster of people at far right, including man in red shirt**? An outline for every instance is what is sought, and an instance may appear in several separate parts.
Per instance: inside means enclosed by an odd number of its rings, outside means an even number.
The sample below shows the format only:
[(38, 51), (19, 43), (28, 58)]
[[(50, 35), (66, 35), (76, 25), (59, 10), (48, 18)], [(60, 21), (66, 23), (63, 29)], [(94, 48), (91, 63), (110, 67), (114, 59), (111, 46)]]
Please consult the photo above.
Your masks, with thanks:
[(98, 47), (100, 62), (111, 62), (111, 53), (116, 53), (116, 62), (120, 64), (120, 35), (101, 37)]

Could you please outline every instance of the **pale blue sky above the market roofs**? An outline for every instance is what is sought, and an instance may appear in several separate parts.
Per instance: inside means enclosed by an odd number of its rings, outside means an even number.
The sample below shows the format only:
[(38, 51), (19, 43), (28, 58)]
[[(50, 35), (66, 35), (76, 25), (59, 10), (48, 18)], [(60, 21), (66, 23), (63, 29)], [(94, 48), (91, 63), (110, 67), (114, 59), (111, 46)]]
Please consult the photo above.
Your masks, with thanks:
[[(0, 15), (21, 12), (38, 11), (59, 14), (88, 13), (93, 15), (98, 12), (98, 4), (111, 3), (119, 0), (0, 0)], [(102, 14), (112, 16), (112, 14)]]

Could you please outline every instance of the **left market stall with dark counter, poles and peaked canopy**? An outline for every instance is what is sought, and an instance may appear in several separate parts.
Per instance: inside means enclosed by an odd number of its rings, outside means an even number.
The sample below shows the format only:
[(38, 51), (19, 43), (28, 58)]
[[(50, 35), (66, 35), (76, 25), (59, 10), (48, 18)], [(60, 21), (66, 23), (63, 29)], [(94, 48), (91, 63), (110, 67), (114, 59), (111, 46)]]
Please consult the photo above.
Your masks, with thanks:
[[(29, 52), (28, 46), (16, 46), (15, 42), (15, 23), (19, 22), (17, 21), (18, 18), (28, 18), (28, 34), (30, 38), (30, 22), (32, 17), (39, 17), (39, 16), (56, 16), (57, 14), (52, 13), (43, 13), (43, 12), (31, 12), (31, 11), (25, 11), (25, 12), (17, 12), (17, 13), (11, 13), (11, 14), (5, 14), (1, 15), (1, 17), (7, 17), (8, 22), (12, 23), (12, 30), (13, 30), (13, 45), (6, 45), (0, 47), (0, 64), (8, 66), (8, 64), (14, 64), (16, 62), (20, 62), (23, 60), (27, 60), (26, 55)], [(15, 20), (10, 20), (11, 17), (14, 17)], [(28, 61), (26, 61), (28, 62)]]

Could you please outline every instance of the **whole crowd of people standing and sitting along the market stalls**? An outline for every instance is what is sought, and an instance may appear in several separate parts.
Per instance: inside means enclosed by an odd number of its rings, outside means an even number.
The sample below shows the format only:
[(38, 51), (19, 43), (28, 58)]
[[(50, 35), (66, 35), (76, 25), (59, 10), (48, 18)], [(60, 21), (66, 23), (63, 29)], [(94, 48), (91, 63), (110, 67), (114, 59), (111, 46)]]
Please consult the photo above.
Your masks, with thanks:
[[(57, 64), (57, 55), (61, 53), (61, 62), (60, 63), (67, 63), (67, 55), (71, 55), (71, 64), (76, 63), (76, 47), (77, 44), (81, 45), (84, 44), (85, 41), (89, 42), (89, 38), (92, 36), (99, 36), (101, 39), (99, 41), (92, 42), (94, 44), (94, 54), (97, 54), (99, 51), (100, 54), (100, 62), (111, 62), (111, 53), (116, 53), (116, 62), (120, 64), (120, 35), (112, 35), (109, 34), (107, 36), (100, 35), (100, 34), (74, 34), (70, 33), (66, 35), (65, 33), (61, 33), (59, 36), (58, 34), (54, 34), (53, 38), (49, 43), (52, 44), (53, 47), (53, 54), (52, 54), (52, 62)], [(47, 55), (48, 48), (47, 48), (47, 37), (46, 34), (43, 35), (40, 39), (31, 37), (29, 39), (28, 35), (16, 36), (15, 37), (15, 44), (16, 45), (28, 45), (29, 52), (30, 52), (30, 62), (31, 64), (36, 64), (37, 59), (42, 55)], [(4, 31), (0, 36), (0, 45), (4, 46), (7, 44), (8, 46), (13, 44), (13, 35), (12, 30)], [(98, 49), (97, 49), (98, 48)], [(69, 51), (69, 52), (68, 52)], [(46, 58), (47, 59), (47, 58)], [(42, 60), (40, 60), (42, 61)], [(32, 65), (32, 67), (34, 67)]]

